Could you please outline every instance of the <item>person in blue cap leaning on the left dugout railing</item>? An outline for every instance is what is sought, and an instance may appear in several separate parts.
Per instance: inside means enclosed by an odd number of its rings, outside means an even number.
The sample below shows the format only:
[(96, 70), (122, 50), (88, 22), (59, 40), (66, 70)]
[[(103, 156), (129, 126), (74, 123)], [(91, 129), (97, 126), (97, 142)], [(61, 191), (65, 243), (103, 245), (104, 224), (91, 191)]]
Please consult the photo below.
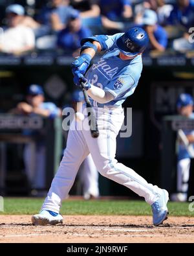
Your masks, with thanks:
[[(39, 115), (54, 119), (61, 116), (61, 110), (52, 102), (44, 102), (44, 92), (41, 86), (32, 84), (28, 87), (27, 102), (20, 102), (12, 113), (22, 115)], [(31, 189), (45, 189), (45, 157), (46, 148), (43, 136), (33, 130), (25, 130), (24, 135), (33, 135), (35, 141), (35, 155), (31, 143), (25, 145), (24, 162), (25, 172)]]

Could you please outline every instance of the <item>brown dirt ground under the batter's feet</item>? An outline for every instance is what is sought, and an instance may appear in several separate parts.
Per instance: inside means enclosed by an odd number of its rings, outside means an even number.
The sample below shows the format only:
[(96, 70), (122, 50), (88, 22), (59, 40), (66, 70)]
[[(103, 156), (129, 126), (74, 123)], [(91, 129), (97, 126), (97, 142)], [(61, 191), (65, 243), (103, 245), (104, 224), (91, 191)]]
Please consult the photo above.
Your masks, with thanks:
[(194, 218), (172, 217), (160, 227), (151, 216), (64, 216), (59, 226), (32, 226), (30, 215), (0, 215), (6, 242), (194, 242)]

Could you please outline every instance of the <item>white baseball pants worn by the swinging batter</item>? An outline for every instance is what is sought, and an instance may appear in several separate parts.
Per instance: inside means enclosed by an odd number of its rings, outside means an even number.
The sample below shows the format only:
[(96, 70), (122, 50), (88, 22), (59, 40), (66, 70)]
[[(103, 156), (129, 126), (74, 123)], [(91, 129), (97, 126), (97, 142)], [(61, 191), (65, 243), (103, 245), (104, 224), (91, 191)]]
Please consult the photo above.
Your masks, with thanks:
[(128, 187), (139, 196), (143, 196), (148, 204), (153, 204), (158, 199), (161, 190), (157, 186), (147, 183), (134, 170), (118, 163), (115, 159), (116, 136), (124, 121), (122, 108), (94, 109), (98, 111), (97, 120), (100, 136), (98, 139), (91, 137), (87, 117), (83, 122), (72, 122), (67, 139), (67, 148), (42, 209), (59, 213), (61, 202), (63, 198), (67, 197), (78, 169), (89, 153), (91, 153), (96, 169), (100, 174)]

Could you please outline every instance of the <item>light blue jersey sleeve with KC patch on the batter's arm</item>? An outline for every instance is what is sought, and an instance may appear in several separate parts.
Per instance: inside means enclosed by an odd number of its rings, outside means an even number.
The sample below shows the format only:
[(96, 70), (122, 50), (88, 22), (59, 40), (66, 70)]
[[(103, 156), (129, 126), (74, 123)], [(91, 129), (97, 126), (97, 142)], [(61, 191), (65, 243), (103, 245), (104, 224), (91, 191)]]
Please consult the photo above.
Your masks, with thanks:
[(113, 94), (114, 99), (116, 99), (120, 95), (125, 95), (125, 93), (128, 93), (131, 90), (134, 91), (135, 87), (135, 80), (132, 76), (127, 74), (116, 76), (114, 80), (111, 80), (103, 89), (104, 91), (109, 91), (109, 93)]

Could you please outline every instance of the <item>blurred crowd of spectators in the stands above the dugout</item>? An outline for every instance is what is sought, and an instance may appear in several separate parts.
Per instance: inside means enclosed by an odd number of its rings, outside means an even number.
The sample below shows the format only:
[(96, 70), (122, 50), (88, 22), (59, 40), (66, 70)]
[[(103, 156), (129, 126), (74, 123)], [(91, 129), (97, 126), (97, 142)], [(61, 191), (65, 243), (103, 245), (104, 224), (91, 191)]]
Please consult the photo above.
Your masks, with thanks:
[[(138, 25), (149, 34), (147, 51), (193, 50), (193, 0), (1, 1), (0, 52), (72, 51), (91, 34), (115, 34)], [(14, 38), (14, 43), (13, 39)]]

